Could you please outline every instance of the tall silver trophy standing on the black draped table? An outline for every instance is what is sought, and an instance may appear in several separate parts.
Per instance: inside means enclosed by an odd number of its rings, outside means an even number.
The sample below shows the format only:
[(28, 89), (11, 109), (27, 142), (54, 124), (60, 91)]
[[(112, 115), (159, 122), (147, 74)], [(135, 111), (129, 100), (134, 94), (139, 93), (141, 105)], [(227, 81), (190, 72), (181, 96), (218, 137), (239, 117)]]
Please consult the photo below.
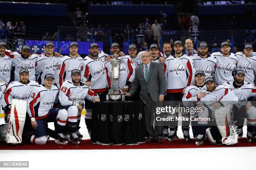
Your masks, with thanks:
[(119, 88), (119, 72), (121, 60), (118, 59), (118, 54), (112, 55), (112, 60), (110, 61), (112, 70), (112, 88), (107, 94), (108, 102), (124, 102), (125, 95), (122, 94), (122, 90)]

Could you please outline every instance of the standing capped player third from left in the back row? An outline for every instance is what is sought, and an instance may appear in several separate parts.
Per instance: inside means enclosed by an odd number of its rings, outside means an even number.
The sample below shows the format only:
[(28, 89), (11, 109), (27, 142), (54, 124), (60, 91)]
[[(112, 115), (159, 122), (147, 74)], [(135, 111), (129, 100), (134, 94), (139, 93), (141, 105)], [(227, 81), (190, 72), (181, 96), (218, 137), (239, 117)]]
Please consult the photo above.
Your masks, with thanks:
[(58, 61), (61, 57), (54, 56), (54, 43), (49, 41), (45, 45), (46, 54), (39, 55), (36, 60), (36, 72), (39, 72), (38, 83), (44, 84), (44, 76), (48, 73), (55, 74)]

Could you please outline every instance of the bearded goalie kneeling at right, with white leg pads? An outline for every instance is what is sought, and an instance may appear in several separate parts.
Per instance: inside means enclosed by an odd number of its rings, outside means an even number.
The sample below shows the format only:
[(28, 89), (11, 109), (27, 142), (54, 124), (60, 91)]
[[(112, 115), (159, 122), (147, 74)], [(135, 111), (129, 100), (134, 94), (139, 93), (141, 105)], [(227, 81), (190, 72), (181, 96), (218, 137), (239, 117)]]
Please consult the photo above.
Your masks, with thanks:
[[(223, 85), (215, 84), (212, 77), (207, 77), (206, 95), (198, 99), (197, 107), (211, 111), (214, 125), (206, 130), (208, 140), (214, 144), (233, 145), (238, 143), (236, 126), (232, 120), (232, 105), (238, 102), (235, 93)], [(204, 110), (205, 110), (204, 109)], [(209, 122), (208, 122), (209, 123)], [(217, 125), (217, 126), (216, 126)]]

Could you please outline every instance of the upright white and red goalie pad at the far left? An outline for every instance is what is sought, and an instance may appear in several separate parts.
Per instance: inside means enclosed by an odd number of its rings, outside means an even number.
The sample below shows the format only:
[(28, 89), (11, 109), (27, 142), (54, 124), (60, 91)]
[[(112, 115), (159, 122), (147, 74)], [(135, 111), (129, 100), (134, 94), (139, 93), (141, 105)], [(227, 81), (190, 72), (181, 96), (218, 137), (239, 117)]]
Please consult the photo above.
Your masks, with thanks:
[(25, 100), (12, 100), (10, 120), (6, 133), (6, 143), (21, 143), (22, 132), (26, 119), (27, 102)]

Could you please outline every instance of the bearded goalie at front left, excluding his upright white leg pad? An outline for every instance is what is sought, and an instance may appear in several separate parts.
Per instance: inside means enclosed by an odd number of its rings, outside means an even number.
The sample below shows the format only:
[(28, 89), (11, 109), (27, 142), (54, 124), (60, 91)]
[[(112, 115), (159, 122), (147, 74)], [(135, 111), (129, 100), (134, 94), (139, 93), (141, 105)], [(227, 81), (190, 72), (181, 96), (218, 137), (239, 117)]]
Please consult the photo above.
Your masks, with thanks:
[[(19, 74), (20, 80), (11, 82), (6, 88), (3, 97), (1, 98), (1, 105), (5, 110), (5, 122), (8, 122), (10, 116), (10, 110), (12, 105), (12, 99), (26, 100), (28, 101), (31, 91), (38, 85), (37, 82), (29, 80), (29, 71), (27, 69), (21, 69)], [(26, 116), (26, 122), (24, 132), (29, 130), (30, 126), (27, 126), (29, 122), (28, 115)]]

